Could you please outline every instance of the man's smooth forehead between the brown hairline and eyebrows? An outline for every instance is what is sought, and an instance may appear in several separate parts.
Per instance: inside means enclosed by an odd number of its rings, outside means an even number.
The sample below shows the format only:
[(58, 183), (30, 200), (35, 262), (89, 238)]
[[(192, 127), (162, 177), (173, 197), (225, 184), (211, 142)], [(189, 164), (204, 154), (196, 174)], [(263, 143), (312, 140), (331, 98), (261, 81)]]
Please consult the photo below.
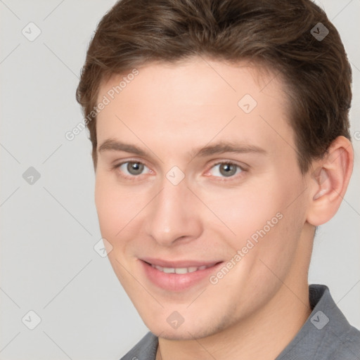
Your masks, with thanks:
[(158, 139), (171, 151), (179, 143), (198, 147), (216, 136), (261, 146), (292, 131), (283, 82), (264, 68), (193, 58), (136, 70), (101, 85), (98, 102), (105, 97), (108, 104), (97, 117), (98, 143)]

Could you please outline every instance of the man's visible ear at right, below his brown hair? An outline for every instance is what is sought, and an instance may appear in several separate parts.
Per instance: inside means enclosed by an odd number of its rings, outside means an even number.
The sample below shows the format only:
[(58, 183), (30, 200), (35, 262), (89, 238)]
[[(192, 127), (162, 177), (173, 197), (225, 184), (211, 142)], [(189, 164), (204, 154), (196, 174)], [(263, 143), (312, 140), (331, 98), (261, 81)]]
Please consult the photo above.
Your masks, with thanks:
[(309, 224), (325, 224), (336, 214), (347, 190), (353, 165), (354, 150), (345, 136), (338, 136), (331, 143), (328, 153), (312, 163), (307, 174)]

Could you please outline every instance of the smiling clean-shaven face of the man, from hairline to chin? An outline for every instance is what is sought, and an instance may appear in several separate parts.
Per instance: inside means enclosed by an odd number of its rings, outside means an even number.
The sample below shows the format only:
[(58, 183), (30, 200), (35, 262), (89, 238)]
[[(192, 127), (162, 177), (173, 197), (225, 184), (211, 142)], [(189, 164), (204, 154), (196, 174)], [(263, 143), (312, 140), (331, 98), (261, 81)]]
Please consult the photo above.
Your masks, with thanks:
[(108, 141), (96, 167), (101, 233), (124, 290), (162, 338), (306, 308), (313, 227), (287, 99), (274, 74), (240, 65), (150, 64), (114, 99), (126, 75), (98, 95), (111, 100), (96, 124), (98, 149)]

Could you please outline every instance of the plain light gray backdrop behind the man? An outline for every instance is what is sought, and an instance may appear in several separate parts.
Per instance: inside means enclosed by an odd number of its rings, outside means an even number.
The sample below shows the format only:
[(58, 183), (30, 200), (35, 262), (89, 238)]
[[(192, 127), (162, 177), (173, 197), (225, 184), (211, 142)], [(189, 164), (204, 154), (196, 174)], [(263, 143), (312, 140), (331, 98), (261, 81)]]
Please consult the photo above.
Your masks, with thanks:
[[(98, 20), (113, 0), (0, 0), (0, 359), (119, 359), (146, 332), (106, 257), (94, 205), (88, 132), (75, 101), (79, 71)], [(318, 1), (353, 67), (352, 134), (360, 131), (360, 0)], [(23, 34), (33, 22), (34, 41)], [(29, 32), (29, 30), (27, 30)], [(34, 35), (32, 28), (32, 35)], [(354, 174), (337, 216), (321, 226), (309, 283), (325, 283), (360, 328), (360, 132)], [(34, 167), (34, 184), (23, 173)], [(35, 311), (30, 330), (22, 319)], [(34, 316), (25, 316), (31, 325)], [(30, 320), (31, 319), (31, 320)]]

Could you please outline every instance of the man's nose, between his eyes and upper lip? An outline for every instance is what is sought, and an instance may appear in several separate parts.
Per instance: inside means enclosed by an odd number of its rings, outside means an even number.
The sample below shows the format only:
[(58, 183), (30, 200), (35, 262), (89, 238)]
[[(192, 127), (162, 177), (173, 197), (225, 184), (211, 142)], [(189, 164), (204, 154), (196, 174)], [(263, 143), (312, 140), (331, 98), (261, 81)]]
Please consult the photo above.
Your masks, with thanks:
[(200, 205), (186, 179), (174, 185), (165, 178), (160, 193), (148, 205), (146, 233), (165, 247), (199, 238), (203, 231)]

